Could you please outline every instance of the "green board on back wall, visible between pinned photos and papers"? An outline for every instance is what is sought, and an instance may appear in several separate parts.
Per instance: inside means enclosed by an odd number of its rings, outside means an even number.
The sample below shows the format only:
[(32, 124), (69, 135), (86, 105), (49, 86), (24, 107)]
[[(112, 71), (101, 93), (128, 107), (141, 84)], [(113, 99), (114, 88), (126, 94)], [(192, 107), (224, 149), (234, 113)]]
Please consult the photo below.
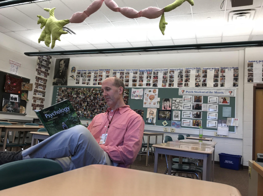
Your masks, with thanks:
[[(58, 88), (60, 87), (67, 87), (67, 88), (100, 88), (100, 87), (79, 87), (79, 86), (54, 86), (53, 88), (53, 95), (52, 95), (52, 105), (55, 104), (55, 100), (56, 100), (56, 93)], [(130, 99), (130, 95), (131, 95), (131, 88), (127, 88), (129, 89), (129, 100), (128, 100), (128, 105), (130, 106), (131, 109), (138, 109), (138, 110), (143, 110), (144, 111), (144, 115), (143, 115), (143, 120), (144, 122), (146, 121), (146, 114), (147, 114), (147, 108), (143, 108), (143, 100), (136, 100), (136, 99)], [(178, 88), (158, 88), (158, 97), (160, 98), (160, 108), (161, 108), (161, 101), (163, 98), (182, 98), (182, 96), (178, 95)], [(203, 96), (203, 103), (207, 103), (207, 96)], [(227, 117), (222, 117), (222, 107), (231, 107), (231, 117), (230, 118), (234, 118), (235, 117), (235, 97), (230, 97), (229, 100), (229, 105), (218, 105), (218, 119), (221, 120), (226, 120)], [(158, 115), (158, 110), (157, 109), (157, 113), (156, 115)], [(171, 110), (171, 116), (172, 116), (172, 111)], [(228, 117), (229, 118), (229, 117)], [(181, 119), (181, 117), (180, 117)], [(211, 128), (206, 128), (206, 119), (207, 119), (207, 112), (202, 111), (202, 127), (205, 130), (212, 130), (212, 131), (216, 131), (217, 129), (211, 129)], [(85, 119), (85, 118), (80, 118), (80, 120), (91, 120), (91, 119)], [(171, 117), (172, 120), (172, 117)], [(158, 120), (156, 118), (156, 126), (162, 126), (163, 120)], [(166, 127), (170, 127), (171, 126), (171, 121), (167, 121), (168, 125), (166, 125)], [(151, 123), (145, 123), (145, 125), (152, 125)], [(194, 127), (182, 127), (181, 128), (187, 128), (187, 129), (196, 129)], [(235, 132), (234, 127), (229, 126), (229, 132)]]

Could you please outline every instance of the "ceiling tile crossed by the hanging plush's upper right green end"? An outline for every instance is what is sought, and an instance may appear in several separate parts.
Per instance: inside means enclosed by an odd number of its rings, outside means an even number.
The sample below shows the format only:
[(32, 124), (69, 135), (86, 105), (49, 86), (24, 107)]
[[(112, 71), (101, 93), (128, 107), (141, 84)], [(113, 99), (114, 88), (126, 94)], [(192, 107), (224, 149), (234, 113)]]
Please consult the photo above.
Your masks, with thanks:
[[(156, 0), (159, 8), (166, 7), (168, 4), (170, 4), (172, 1), (170, 0)], [(190, 4), (188, 2), (182, 3), (178, 8), (173, 9), (169, 12), (165, 12), (165, 17), (170, 15), (183, 15), (183, 14), (190, 14)]]

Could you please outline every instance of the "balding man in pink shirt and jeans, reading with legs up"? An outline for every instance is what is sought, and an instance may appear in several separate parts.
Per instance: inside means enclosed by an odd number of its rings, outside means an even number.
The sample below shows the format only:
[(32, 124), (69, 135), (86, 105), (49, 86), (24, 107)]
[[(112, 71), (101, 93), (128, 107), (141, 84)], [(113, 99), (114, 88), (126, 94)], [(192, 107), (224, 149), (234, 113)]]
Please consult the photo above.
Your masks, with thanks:
[(125, 105), (119, 78), (105, 79), (101, 89), (109, 108), (96, 115), (87, 129), (76, 125), (24, 151), (0, 152), (0, 165), (46, 158), (59, 163), (64, 172), (92, 164), (128, 168), (140, 150), (144, 121)]

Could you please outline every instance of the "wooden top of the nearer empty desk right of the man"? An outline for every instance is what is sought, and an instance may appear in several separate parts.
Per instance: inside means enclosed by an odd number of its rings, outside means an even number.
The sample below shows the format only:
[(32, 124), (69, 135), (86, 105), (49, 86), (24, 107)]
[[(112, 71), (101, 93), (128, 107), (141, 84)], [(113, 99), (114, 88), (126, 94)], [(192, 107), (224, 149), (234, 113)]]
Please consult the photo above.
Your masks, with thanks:
[(155, 148), (163, 148), (163, 149), (171, 149), (171, 150), (177, 150), (177, 151), (185, 151), (185, 152), (191, 152), (191, 153), (201, 153), (201, 154), (212, 154), (214, 148), (212, 147), (206, 147), (206, 146), (196, 146), (191, 145), (187, 143), (180, 143), (179, 140), (174, 142), (167, 142), (162, 144), (154, 144), (152, 147)]

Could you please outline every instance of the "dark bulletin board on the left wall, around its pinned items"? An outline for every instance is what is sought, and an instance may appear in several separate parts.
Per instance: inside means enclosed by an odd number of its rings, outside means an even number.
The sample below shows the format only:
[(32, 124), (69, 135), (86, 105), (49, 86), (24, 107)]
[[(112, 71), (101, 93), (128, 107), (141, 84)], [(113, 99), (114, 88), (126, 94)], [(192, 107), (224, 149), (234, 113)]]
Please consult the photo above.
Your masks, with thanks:
[[(28, 79), (28, 78), (24, 78), (24, 77), (21, 77), (21, 76), (18, 76), (18, 75), (13, 75), (13, 74), (10, 74), (10, 73), (7, 73), (7, 72), (0, 71), (0, 111), (2, 111), (2, 97), (3, 97), (3, 94), (5, 93), (5, 91), (4, 91), (5, 74), (9, 74), (10, 76), (12, 76), (14, 78), (22, 78), (23, 82), (27, 82), (27, 83), (30, 82), (30, 79)], [(22, 93), (28, 93), (28, 91), (27, 90), (22, 90)], [(8, 93), (8, 94), (10, 94), (10, 93)], [(15, 93), (11, 93), (11, 94), (15, 94)], [(15, 94), (15, 95), (18, 95), (18, 97), (21, 98), (21, 94)], [(26, 101), (21, 99), (20, 100), (20, 106), (23, 106), (23, 107), (26, 108)], [(8, 112), (8, 114), (12, 114), (12, 113)]]

